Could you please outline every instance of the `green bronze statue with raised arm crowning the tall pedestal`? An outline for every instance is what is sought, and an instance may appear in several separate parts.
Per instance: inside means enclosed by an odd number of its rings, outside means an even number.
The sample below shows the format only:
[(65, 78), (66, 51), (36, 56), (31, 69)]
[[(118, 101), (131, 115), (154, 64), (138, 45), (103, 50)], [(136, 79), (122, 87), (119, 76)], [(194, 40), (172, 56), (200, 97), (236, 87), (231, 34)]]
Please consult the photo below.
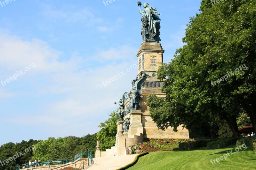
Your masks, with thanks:
[[(160, 35), (160, 21), (158, 15), (161, 15), (157, 12), (156, 8), (153, 8), (148, 3), (144, 3), (144, 11), (141, 11), (141, 2), (138, 2), (140, 9), (141, 18), (141, 35), (142, 43), (143, 42), (158, 42), (161, 41), (159, 38)], [(155, 21), (154, 21), (155, 20)]]

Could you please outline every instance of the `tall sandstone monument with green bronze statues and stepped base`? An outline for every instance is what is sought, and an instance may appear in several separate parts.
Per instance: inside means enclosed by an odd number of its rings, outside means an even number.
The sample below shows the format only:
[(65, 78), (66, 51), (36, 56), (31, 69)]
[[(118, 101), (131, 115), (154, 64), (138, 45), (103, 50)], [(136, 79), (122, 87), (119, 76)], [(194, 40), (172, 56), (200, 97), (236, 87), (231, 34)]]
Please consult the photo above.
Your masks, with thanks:
[(156, 78), (156, 71), (163, 63), (164, 50), (159, 42), (161, 14), (148, 3), (143, 4), (145, 9), (141, 11), (141, 5), (139, 1), (142, 44), (137, 53), (138, 74), (132, 80), (132, 90), (125, 92), (118, 103), (116, 144), (106, 152), (97, 151), (100, 157), (126, 155), (128, 147), (144, 142), (144, 138), (189, 138), (188, 130), (182, 126), (177, 128), (177, 132), (172, 127), (163, 131), (150, 117), (148, 95), (155, 93), (158, 97), (166, 96), (161, 92), (164, 82)]

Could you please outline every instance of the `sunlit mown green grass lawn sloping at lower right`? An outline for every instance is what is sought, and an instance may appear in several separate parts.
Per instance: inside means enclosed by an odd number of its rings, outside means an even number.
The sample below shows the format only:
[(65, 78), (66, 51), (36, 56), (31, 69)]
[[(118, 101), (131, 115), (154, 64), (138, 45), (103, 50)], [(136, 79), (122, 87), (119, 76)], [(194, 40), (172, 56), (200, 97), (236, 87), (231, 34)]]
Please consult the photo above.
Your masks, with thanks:
[[(160, 151), (153, 152), (139, 158), (138, 162), (129, 170), (165, 170), (165, 169), (256, 169), (256, 154), (252, 147), (235, 151), (236, 146), (224, 149), (200, 149), (193, 151)], [(227, 156), (227, 160), (219, 160), (216, 164), (211, 159), (220, 158), (223, 154), (232, 151), (234, 154)]]

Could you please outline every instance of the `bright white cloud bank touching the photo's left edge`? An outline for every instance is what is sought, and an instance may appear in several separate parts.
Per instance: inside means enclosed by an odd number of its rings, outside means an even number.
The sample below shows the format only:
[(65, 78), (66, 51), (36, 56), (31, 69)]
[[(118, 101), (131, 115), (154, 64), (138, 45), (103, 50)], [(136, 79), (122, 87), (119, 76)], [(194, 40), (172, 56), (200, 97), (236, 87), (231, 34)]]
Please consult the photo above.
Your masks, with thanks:
[(59, 62), (61, 52), (50, 48), (45, 41), (23, 41), (20, 37), (3, 34), (1, 30), (0, 52), (0, 65), (3, 70), (18, 71), (35, 63), (37, 71), (65, 71), (76, 67), (79, 62), (79, 59)]

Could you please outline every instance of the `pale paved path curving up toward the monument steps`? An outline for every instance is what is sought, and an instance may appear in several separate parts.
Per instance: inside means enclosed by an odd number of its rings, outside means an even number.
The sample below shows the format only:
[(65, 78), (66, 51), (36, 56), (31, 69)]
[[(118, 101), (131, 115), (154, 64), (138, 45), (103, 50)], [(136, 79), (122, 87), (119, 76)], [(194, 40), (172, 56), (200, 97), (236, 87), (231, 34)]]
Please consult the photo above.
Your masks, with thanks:
[(93, 158), (93, 164), (87, 170), (115, 170), (121, 168), (135, 159), (136, 155), (113, 156)]

